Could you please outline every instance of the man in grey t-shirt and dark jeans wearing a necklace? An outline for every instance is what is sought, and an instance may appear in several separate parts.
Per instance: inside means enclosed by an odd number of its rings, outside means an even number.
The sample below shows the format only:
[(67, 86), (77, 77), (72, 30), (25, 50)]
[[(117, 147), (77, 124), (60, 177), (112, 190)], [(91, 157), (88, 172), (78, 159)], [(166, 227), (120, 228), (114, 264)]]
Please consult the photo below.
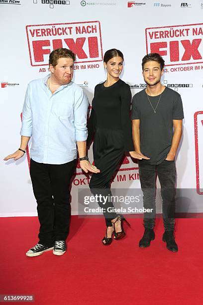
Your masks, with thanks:
[[(181, 96), (161, 84), (164, 60), (157, 53), (144, 56), (142, 70), (146, 89), (135, 94), (132, 102), (133, 142), (140, 154), (139, 176), (143, 191), (143, 203), (151, 213), (144, 213), (144, 235), (139, 247), (146, 248), (155, 238), (156, 174), (161, 184), (163, 241), (170, 251), (177, 252), (174, 237), (175, 226), (175, 155), (182, 136), (184, 118)], [(149, 159), (146, 159), (146, 156)]]

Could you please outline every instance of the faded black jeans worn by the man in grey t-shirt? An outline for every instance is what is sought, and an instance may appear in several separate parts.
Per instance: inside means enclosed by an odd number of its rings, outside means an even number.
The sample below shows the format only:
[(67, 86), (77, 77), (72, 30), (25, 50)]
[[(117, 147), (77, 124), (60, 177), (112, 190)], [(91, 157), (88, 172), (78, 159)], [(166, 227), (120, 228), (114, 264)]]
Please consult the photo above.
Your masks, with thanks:
[(139, 177), (143, 191), (143, 205), (152, 212), (144, 213), (144, 227), (153, 229), (156, 216), (156, 174), (159, 177), (162, 196), (162, 216), (166, 231), (174, 230), (175, 226), (175, 161), (164, 160), (158, 165), (151, 165), (148, 161), (139, 160)]

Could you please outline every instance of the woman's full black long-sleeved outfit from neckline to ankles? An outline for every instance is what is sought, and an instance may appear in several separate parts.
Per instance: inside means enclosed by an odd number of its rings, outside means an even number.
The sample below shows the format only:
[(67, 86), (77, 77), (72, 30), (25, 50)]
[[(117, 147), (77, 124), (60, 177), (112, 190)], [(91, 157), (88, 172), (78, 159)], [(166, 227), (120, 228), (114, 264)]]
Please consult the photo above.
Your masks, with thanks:
[[(90, 188), (94, 194), (111, 196), (110, 179), (123, 153), (134, 151), (130, 102), (130, 87), (121, 79), (109, 87), (104, 87), (104, 83), (95, 87), (87, 140), (89, 146), (95, 134), (93, 154), (95, 165), (101, 172), (93, 174), (90, 180)], [(99, 205), (105, 209), (103, 214), (106, 225), (111, 226), (110, 220), (117, 216), (115, 212), (109, 212), (113, 210), (112, 201), (108, 200), (105, 206), (99, 202)]]

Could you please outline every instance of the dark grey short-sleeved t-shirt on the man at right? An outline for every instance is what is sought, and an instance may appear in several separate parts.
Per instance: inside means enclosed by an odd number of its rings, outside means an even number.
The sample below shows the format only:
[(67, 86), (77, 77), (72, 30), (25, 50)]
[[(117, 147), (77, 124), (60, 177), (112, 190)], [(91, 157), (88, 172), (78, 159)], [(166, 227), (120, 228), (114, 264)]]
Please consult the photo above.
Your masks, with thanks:
[[(155, 109), (160, 95), (149, 96)], [(181, 96), (168, 87), (162, 92), (156, 113), (149, 103), (145, 89), (132, 99), (132, 120), (140, 120), (140, 148), (149, 164), (161, 163), (170, 151), (173, 120), (184, 119)]]

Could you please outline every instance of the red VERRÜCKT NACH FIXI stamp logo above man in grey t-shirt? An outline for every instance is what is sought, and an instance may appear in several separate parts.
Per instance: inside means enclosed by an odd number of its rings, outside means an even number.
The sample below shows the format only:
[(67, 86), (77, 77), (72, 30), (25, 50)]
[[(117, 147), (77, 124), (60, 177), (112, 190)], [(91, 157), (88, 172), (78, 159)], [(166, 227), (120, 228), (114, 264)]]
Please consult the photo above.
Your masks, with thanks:
[(159, 53), (165, 66), (203, 62), (203, 23), (145, 29), (147, 53)]

